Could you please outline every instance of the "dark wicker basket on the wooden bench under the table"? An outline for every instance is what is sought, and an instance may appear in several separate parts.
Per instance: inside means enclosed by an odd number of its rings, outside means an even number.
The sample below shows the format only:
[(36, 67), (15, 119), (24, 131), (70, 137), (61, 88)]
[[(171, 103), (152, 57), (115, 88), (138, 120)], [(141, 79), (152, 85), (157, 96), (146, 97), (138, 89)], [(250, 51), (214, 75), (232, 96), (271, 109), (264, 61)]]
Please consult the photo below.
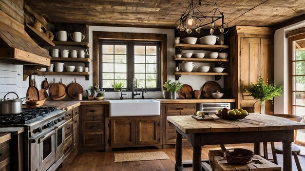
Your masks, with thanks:
[(224, 153), (224, 157), (229, 164), (242, 165), (252, 161), (254, 153), (247, 149), (229, 149)]

